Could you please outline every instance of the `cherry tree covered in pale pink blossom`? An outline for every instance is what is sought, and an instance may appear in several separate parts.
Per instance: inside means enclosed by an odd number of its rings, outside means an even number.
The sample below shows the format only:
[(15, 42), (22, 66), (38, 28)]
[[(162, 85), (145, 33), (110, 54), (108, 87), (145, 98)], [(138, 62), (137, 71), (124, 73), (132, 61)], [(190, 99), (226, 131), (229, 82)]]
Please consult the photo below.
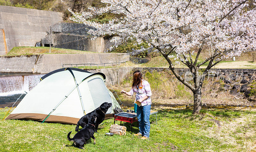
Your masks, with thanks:
[[(133, 50), (159, 51), (169, 63), (175, 77), (194, 93), (194, 110), (201, 109), (201, 88), (209, 70), (222, 59), (239, 56), (256, 47), (255, 0), (102, 0), (106, 7), (89, 7), (90, 12), (73, 13), (73, 21), (95, 27), (93, 35), (118, 35), (115, 46), (136, 40), (148, 48)], [(249, 7), (250, 5), (250, 7)], [(88, 20), (103, 13), (122, 17), (99, 24)], [(110, 48), (111, 49), (111, 48)], [(209, 57), (198, 58), (203, 49)], [(218, 56), (218, 59), (216, 57)], [(220, 57), (220, 58), (219, 58)], [(171, 59), (173, 58), (173, 59)], [(194, 74), (189, 83), (176, 71), (173, 62), (188, 66)], [(199, 68), (207, 64), (203, 75)]]

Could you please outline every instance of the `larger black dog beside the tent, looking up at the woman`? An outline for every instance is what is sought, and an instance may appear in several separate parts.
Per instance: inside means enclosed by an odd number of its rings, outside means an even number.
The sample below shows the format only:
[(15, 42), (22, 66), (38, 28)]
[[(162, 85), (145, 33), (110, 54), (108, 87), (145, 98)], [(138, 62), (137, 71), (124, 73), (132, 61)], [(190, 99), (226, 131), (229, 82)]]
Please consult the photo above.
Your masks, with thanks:
[(85, 116), (83, 116), (76, 125), (76, 131), (78, 131), (79, 126), (83, 127), (88, 124), (88, 121), (90, 118), (92, 117), (97, 117), (97, 121), (96, 121), (96, 125), (95, 125), (95, 129), (96, 129), (96, 133), (97, 133), (97, 129), (99, 127), (99, 124), (105, 119), (105, 114), (108, 111), (108, 108), (110, 108), (112, 106), (112, 103), (108, 103), (108, 102), (104, 102), (100, 105), (100, 107), (96, 108), (95, 110), (93, 110), (92, 112), (86, 114)]

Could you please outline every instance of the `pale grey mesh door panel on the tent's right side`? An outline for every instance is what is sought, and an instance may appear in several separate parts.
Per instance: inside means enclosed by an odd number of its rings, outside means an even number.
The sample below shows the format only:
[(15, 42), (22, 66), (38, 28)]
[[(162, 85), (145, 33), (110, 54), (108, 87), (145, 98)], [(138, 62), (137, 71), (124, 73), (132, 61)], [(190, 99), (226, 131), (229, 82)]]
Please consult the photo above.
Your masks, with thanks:
[[(112, 103), (111, 96), (105, 86), (105, 83), (100, 78), (95, 78), (88, 81), (88, 87), (94, 102), (94, 107), (100, 107), (101, 103), (108, 102)], [(111, 108), (108, 109), (107, 114), (111, 113)]]

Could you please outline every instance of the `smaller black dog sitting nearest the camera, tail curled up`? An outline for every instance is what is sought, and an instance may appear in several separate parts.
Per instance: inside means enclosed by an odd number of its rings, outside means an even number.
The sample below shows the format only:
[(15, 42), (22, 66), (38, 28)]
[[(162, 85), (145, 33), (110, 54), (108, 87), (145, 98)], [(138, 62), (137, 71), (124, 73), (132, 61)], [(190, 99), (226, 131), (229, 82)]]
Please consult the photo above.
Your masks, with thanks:
[(70, 138), (70, 134), (72, 131), (68, 133), (68, 140), (74, 142), (77, 148), (84, 149), (83, 146), (87, 140), (90, 138), (93, 139), (93, 143), (95, 144), (95, 137), (93, 136), (95, 132), (95, 125), (96, 125), (96, 117), (93, 117), (89, 120), (89, 123), (80, 131), (74, 135), (73, 138)]

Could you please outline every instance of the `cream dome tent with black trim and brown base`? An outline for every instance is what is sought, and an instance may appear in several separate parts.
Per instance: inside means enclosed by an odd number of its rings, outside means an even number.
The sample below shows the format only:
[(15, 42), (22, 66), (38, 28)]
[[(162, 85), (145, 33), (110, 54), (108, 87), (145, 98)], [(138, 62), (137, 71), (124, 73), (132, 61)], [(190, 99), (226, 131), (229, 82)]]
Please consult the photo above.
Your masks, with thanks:
[[(103, 102), (112, 103), (108, 114), (120, 105), (105, 86), (103, 73), (90, 73), (77, 68), (52, 71), (20, 101), (5, 120), (25, 119), (63, 124), (77, 121), (99, 107)], [(47, 119), (46, 119), (47, 118)]]

